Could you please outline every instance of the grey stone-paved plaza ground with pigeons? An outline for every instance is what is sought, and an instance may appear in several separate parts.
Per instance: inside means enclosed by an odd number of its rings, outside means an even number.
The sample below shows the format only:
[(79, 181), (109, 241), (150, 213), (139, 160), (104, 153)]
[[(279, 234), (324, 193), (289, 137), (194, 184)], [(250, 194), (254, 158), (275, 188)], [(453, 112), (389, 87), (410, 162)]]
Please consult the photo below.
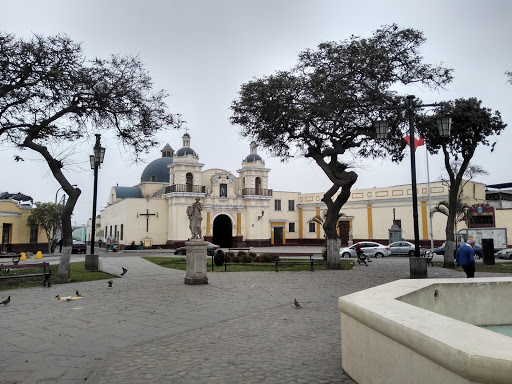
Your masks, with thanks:
[[(0, 292), (11, 295), (0, 307), (0, 384), (354, 383), (341, 368), (338, 297), (409, 275), (407, 258), (389, 258), (349, 271), (208, 273), (208, 285), (189, 286), (184, 271), (140, 257), (100, 263), (128, 273), (112, 288)], [(75, 290), (83, 298), (55, 298)]]

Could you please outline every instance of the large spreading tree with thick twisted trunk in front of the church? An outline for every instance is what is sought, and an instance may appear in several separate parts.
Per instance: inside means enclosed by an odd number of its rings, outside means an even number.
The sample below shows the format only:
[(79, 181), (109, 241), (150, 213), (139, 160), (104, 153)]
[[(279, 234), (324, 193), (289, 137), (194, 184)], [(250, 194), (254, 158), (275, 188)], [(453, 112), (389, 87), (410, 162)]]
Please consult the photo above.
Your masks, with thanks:
[[(419, 48), (424, 42), (420, 31), (397, 25), (384, 26), (368, 38), (324, 42), (301, 52), (292, 69), (243, 84), (232, 103), (231, 122), (241, 127), (242, 136), (283, 160), (315, 160), (333, 183), (323, 198), (329, 268), (339, 267), (336, 220), (357, 180), (350, 170), (353, 158), (403, 157), (405, 143), (397, 128), (404, 118), (380, 109), (402, 103), (392, 87), (435, 89), (452, 79), (450, 69), (423, 63)], [(372, 125), (384, 117), (394, 129), (389, 140), (377, 142)]]

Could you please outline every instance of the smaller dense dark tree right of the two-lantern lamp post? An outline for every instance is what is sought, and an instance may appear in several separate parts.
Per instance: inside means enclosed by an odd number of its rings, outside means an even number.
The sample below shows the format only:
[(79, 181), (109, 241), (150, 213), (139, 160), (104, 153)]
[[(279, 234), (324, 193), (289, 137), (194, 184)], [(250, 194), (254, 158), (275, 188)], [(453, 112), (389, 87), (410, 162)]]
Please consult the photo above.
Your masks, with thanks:
[[(436, 119), (449, 114), (452, 117), (452, 127), (449, 137), (441, 137), (436, 128)], [(452, 257), (454, 228), (457, 215), (457, 202), (460, 197), (460, 189), (463, 177), (470, 172), (470, 161), (478, 146), (491, 146), (494, 150), (496, 142), (491, 143), (494, 135), (499, 135), (507, 125), (501, 120), (498, 111), (482, 106), (482, 102), (476, 98), (456, 99), (443, 103), (443, 107), (436, 113), (418, 118), (418, 130), (425, 138), (427, 149), (430, 153), (442, 152), (444, 165), (448, 173), (448, 220), (446, 222), (446, 247), (444, 266), (453, 268)], [(478, 169), (477, 169), (478, 171)], [(481, 173), (481, 170), (478, 172)]]

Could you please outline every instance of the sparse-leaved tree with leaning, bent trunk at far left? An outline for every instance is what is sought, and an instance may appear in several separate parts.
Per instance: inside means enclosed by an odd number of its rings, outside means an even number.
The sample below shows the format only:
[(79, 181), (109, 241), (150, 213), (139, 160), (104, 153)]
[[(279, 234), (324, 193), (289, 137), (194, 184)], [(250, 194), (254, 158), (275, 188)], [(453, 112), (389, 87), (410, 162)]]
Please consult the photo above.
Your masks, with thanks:
[(0, 144), (38, 152), (69, 196), (58, 277), (67, 280), (71, 214), (80, 189), (67, 180), (63, 155), (54, 148), (112, 130), (137, 159), (157, 144), (158, 131), (181, 121), (167, 111), (166, 93), (153, 90), (138, 57), (88, 60), (65, 35), (21, 39), (0, 32), (0, 79)]

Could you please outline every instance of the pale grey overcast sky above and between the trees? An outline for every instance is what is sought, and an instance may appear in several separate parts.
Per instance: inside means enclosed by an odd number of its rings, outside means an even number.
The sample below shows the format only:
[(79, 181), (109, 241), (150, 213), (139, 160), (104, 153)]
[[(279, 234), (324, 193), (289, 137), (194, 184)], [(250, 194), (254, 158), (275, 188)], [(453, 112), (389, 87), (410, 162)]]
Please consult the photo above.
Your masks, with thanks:
[[(512, 2), (508, 0), (345, 1), (345, 0), (3, 0), (0, 28), (18, 37), (65, 33), (82, 42), (89, 58), (110, 54), (139, 55), (153, 77), (156, 89), (165, 89), (169, 109), (187, 121), (191, 147), (205, 164), (237, 176), (249, 142), (229, 123), (231, 102), (240, 85), (253, 77), (291, 68), (297, 55), (322, 41), (340, 41), (351, 35), (370, 36), (382, 25), (397, 23), (422, 31), (426, 62), (453, 68), (454, 81), (446, 91), (407, 90), (424, 102), (477, 97), (483, 106), (499, 110), (507, 124), (512, 120), (512, 85), (505, 71), (512, 70)], [(511, 182), (512, 128), (499, 136), (493, 153), (477, 149), (473, 163), (483, 166), (487, 184)], [(112, 185), (133, 186), (145, 166), (160, 157), (169, 143), (182, 146), (185, 131), (158, 135), (159, 144), (145, 162), (133, 164), (124, 149), (108, 134), (99, 172), (98, 212), (108, 201)], [(92, 215), (93, 173), (89, 167), (92, 141), (77, 143), (70, 160), (77, 165), (66, 175), (82, 190), (73, 224)], [(34, 201), (54, 201), (59, 184), (37, 153), (18, 154), (0, 147), (0, 191), (22, 192)], [(417, 153), (418, 182), (426, 182), (425, 149)], [(321, 192), (331, 185), (314, 162), (305, 159), (281, 163), (259, 151), (271, 168), (269, 187), (280, 191)], [(429, 157), (430, 178), (443, 174), (439, 155)], [(410, 160), (400, 165), (388, 161), (361, 164), (355, 188), (372, 188), (411, 182)], [(59, 199), (62, 191), (59, 192)]]

